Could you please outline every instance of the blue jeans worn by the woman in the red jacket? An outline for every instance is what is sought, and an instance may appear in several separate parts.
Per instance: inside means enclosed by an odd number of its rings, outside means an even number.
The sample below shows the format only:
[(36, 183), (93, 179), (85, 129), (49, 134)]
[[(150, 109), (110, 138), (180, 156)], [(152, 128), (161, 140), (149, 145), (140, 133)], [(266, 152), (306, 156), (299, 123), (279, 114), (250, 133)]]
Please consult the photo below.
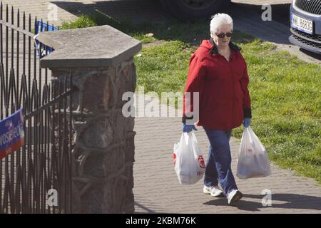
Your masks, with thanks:
[(232, 130), (207, 130), (205, 129), (210, 147), (204, 175), (205, 186), (215, 186), (220, 182), (225, 195), (232, 190), (237, 190), (235, 179), (230, 164), (230, 135)]

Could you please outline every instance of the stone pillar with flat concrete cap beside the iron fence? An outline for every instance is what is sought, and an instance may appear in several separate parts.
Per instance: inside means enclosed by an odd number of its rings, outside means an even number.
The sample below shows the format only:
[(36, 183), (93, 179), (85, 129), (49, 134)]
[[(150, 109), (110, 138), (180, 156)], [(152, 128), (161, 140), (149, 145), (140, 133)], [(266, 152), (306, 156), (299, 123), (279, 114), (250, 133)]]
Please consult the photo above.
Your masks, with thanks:
[(141, 43), (110, 26), (44, 32), (39, 40), (55, 49), (41, 67), (52, 78), (72, 77), (73, 212), (133, 212), (134, 119), (123, 116), (122, 96), (135, 90)]

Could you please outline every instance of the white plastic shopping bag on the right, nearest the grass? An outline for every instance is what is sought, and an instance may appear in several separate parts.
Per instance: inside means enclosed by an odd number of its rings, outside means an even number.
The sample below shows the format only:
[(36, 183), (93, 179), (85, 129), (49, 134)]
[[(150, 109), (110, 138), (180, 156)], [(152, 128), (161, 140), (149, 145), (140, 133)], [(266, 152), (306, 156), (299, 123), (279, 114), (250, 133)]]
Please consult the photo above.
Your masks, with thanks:
[(244, 129), (237, 166), (236, 175), (240, 179), (271, 175), (270, 162), (265, 147), (250, 127)]

